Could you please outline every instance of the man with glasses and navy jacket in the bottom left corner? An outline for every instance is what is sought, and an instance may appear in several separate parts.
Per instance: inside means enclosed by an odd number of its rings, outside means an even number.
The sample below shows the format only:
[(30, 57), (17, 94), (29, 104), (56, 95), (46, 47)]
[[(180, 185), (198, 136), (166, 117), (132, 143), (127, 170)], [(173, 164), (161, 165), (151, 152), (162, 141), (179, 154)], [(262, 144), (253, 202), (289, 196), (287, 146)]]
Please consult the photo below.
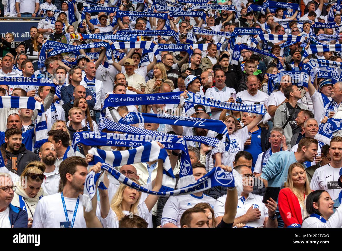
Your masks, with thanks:
[(16, 186), (7, 173), (0, 173), (0, 228), (27, 227), (27, 212), (11, 204)]

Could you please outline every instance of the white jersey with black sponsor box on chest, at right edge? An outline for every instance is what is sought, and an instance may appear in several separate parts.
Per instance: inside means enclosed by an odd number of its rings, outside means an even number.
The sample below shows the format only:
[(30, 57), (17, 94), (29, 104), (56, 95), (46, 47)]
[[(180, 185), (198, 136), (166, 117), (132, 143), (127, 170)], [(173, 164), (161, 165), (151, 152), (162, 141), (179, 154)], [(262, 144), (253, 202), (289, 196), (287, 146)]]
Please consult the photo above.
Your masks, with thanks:
[(325, 190), (329, 193), (332, 200), (339, 197), (341, 188), (338, 188), (337, 181), (340, 178), (340, 168), (333, 168), (330, 164), (316, 169), (310, 182), (311, 190)]

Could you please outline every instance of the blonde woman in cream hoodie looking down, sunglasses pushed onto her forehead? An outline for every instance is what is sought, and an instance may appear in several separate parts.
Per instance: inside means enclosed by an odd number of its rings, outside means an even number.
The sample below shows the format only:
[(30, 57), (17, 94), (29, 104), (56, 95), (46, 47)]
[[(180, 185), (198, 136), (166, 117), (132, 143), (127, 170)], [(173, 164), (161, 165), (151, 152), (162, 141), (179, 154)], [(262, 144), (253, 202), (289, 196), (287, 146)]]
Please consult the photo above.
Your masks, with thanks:
[(27, 211), (27, 227), (32, 226), (33, 215), (39, 199), (43, 196), (47, 196), (41, 187), (45, 178), (44, 171), (45, 165), (43, 163), (32, 161), (25, 167), (21, 174), (21, 179), (15, 183), (16, 190), (14, 192), (12, 205)]

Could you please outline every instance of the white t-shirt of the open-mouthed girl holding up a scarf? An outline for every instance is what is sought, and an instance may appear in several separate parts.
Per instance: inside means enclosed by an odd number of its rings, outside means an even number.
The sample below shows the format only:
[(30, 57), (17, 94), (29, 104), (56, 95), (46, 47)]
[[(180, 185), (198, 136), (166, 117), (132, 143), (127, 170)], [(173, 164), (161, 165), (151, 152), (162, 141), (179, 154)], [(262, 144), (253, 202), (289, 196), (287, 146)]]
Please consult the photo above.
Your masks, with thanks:
[[(231, 141), (231, 143), (229, 144), (229, 151), (224, 151), (222, 153), (221, 163), (222, 165), (233, 166), (235, 155), (237, 154), (237, 152), (244, 151), (245, 142), (247, 139), (249, 139), (247, 126), (242, 127), (241, 129), (229, 135), (229, 139)], [(225, 137), (223, 137), (223, 139), (221, 139), (221, 142), (224, 144), (225, 140)], [(218, 148), (215, 147), (211, 151), (211, 155), (214, 157), (214, 155), (218, 152)], [(212, 166), (209, 167), (209, 169), (211, 168)]]

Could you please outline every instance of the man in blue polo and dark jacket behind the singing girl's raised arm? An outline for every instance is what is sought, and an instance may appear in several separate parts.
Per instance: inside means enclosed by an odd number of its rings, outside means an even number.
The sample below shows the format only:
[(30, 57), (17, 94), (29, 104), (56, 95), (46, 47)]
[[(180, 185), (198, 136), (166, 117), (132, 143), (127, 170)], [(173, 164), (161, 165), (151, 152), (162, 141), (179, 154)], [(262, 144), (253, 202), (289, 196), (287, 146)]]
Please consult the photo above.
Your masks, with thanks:
[[(244, 112), (242, 113), (242, 122), (244, 126), (249, 125), (253, 120), (257, 118), (257, 114)], [(252, 130), (249, 131), (249, 139), (245, 142), (244, 150), (250, 152), (253, 156), (252, 172), (259, 154), (265, 152), (269, 149), (269, 131), (265, 127), (260, 127), (258, 125), (254, 126)]]

